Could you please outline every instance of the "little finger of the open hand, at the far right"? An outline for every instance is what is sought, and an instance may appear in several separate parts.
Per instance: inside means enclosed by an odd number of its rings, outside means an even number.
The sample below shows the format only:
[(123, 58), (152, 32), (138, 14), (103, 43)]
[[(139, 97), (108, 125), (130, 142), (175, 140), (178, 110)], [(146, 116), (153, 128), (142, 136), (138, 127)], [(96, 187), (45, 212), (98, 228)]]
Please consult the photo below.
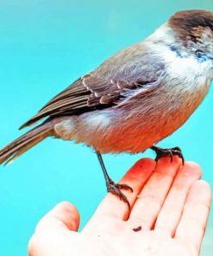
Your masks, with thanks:
[(205, 228), (210, 214), (210, 185), (204, 181), (194, 182), (185, 202), (185, 208), (175, 238), (190, 242), (200, 250)]

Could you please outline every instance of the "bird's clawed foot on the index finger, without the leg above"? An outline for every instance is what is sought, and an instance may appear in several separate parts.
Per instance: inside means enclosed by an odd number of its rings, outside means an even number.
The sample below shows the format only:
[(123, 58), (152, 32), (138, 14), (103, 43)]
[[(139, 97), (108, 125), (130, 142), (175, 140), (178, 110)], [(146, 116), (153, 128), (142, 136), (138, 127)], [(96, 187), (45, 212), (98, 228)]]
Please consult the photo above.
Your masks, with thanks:
[(130, 209), (130, 204), (128, 202), (127, 196), (122, 193), (121, 189), (126, 189), (130, 192), (133, 192), (133, 189), (130, 188), (127, 184), (115, 183), (112, 180), (108, 181), (106, 184), (107, 191), (113, 195), (117, 195), (122, 202), (126, 202), (128, 204), (128, 208)]

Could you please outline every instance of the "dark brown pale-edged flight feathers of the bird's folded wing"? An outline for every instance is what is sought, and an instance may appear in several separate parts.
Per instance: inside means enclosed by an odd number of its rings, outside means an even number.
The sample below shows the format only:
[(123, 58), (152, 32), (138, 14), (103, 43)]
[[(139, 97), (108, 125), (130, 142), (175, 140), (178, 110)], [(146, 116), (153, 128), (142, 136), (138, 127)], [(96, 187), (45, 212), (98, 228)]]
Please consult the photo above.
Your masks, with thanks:
[[(119, 87), (119, 86), (120, 87)], [(44, 106), (33, 118), (23, 124), (25, 126), (33, 125), (35, 122), (48, 116), (60, 116), (63, 114), (74, 114), (79, 111), (91, 111), (94, 107), (109, 107), (116, 104), (120, 94), (127, 89), (137, 88), (135, 84), (128, 82), (113, 83), (94, 77), (92, 74), (86, 74), (66, 88), (65, 91), (58, 94)]]

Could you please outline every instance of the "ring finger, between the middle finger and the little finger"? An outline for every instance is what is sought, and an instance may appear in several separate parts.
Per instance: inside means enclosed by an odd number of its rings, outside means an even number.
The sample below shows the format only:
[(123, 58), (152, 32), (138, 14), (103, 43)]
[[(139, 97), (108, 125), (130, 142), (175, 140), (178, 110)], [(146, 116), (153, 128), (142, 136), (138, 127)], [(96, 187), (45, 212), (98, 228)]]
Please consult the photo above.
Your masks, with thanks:
[(172, 188), (160, 210), (154, 231), (174, 235), (185, 206), (186, 196), (193, 182), (201, 176), (201, 169), (196, 163), (186, 162), (179, 169), (178, 175), (172, 183)]

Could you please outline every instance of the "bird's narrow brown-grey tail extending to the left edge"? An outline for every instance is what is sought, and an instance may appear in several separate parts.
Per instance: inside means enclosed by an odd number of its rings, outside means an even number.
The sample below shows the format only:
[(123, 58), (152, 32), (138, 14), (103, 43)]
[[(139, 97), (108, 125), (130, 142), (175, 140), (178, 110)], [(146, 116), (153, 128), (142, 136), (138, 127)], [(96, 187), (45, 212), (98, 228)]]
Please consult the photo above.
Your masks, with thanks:
[(11, 163), (35, 144), (51, 135), (53, 135), (53, 124), (51, 122), (35, 127), (0, 150), (0, 164), (7, 165)]

